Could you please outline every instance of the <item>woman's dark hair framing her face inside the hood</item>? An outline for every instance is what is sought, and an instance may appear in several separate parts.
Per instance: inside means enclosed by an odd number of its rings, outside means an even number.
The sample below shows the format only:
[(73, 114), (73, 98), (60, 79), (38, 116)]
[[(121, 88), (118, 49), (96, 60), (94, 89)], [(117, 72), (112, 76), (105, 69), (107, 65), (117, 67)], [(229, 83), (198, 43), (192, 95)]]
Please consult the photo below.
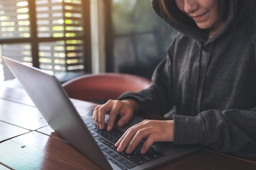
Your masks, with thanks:
[[(189, 29), (198, 30), (203, 33), (204, 36), (208, 37), (210, 29), (200, 29), (194, 20), (180, 11), (177, 7), (175, 0), (159, 0), (162, 12), (165, 13), (168, 18), (176, 22), (177, 24), (184, 26)], [(229, 12), (229, 1), (218, 0), (218, 21), (223, 22), (227, 20), (227, 14)]]

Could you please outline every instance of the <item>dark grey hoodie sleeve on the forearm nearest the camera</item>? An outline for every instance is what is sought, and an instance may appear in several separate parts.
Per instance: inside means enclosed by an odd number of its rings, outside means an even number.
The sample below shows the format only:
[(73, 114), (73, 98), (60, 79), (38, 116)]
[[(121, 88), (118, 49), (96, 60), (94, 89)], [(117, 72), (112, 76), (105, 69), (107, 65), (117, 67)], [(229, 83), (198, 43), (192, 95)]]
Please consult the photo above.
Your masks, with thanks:
[(202, 144), (219, 152), (256, 158), (256, 108), (173, 115), (174, 144)]

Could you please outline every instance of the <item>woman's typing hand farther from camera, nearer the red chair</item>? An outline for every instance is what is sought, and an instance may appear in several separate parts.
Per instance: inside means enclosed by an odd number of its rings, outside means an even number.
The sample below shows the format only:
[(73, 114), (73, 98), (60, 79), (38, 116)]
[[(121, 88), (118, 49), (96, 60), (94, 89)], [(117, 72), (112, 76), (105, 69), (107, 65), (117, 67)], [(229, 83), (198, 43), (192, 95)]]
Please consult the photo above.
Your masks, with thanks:
[(108, 100), (105, 104), (96, 106), (93, 111), (93, 120), (98, 128), (103, 129), (105, 126), (105, 115), (109, 112), (108, 127), (110, 131), (117, 115), (121, 116), (118, 121), (118, 126), (122, 127), (130, 121), (134, 110), (139, 108), (139, 103), (135, 99), (124, 100)]

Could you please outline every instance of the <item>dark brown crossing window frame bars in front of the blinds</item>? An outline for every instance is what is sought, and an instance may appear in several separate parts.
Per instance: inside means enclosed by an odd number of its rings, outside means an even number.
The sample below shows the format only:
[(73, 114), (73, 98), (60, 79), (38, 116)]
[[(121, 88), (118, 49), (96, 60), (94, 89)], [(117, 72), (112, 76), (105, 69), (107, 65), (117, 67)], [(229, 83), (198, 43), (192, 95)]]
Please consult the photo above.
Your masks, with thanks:
[[(90, 0), (81, 0), (83, 9), (83, 31), (82, 35), (76, 37), (49, 37), (40, 38), (37, 36), (37, 24), (36, 24), (36, 0), (28, 0), (29, 8), (29, 26), (30, 26), (30, 37), (29, 38), (1, 38), (0, 44), (19, 44), (19, 43), (30, 43), (31, 44), (31, 57), (32, 65), (39, 68), (39, 43), (40, 42), (56, 42), (61, 40), (83, 40), (83, 59), (85, 73), (91, 73), (91, 28), (90, 28)], [(67, 71), (67, 70), (66, 70)]]

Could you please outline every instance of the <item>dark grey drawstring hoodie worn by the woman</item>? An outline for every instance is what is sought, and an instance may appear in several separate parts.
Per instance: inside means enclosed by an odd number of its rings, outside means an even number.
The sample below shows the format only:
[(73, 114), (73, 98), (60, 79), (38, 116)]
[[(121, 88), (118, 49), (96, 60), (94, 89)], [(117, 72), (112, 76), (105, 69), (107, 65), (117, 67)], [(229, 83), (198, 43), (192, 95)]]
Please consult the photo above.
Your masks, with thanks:
[[(247, 0), (246, 0), (247, 1)], [(174, 144), (202, 144), (256, 158), (256, 0), (229, 0), (224, 26), (205, 39), (155, 12), (179, 33), (155, 69), (152, 85), (119, 99), (139, 101), (139, 114), (176, 107)]]

